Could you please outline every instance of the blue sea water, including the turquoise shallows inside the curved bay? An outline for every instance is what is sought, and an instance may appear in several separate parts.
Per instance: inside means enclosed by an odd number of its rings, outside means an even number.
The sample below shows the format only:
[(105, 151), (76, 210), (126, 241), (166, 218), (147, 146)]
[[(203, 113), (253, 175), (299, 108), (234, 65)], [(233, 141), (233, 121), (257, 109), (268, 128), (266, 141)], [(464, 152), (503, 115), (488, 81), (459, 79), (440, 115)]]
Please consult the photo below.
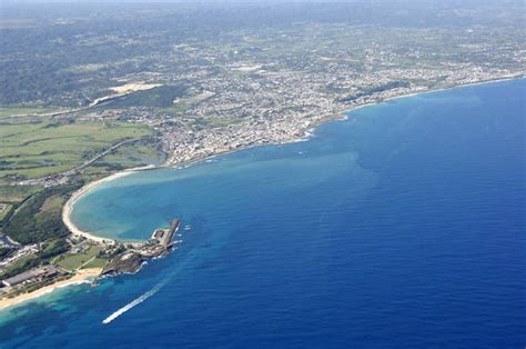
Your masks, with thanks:
[(192, 230), (136, 276), (4, 311), (0, 347), (524, 348), (525, 93), (393, 100), (306, 142), (103, 185), (79, 227)]

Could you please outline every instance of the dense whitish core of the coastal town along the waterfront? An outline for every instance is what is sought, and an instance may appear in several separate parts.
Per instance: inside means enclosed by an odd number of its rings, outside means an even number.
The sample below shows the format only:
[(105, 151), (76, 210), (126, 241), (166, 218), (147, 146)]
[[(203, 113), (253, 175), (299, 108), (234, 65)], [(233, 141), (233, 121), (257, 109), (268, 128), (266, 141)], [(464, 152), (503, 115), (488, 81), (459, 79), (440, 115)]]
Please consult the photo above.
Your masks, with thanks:
[[(519, 73), (522, 74), (522, 72)], [(394, 97), (429, 90), (429, 82), (442, 79), (443, 86), (466, 84), (516, 76), (506, 70), (482, 71), (469, 67), (458, 71), (412, 71), (395, 69), (371, 73), (362, 79), (327, 78), (323, 84), (316, 74), (290, 77), (289, 73), (273, 73), (266, 77), (245, 77), (243, 83), (263, 80), (260, 88), (247, 88), (244, 92), (224, 92), (224, 87), (206, 89), (218, 92), (210, 99), (192, 106), (180, 116), (186, 122), (171, 122), (171, 117), (143, 117), (144, 122), (162, 134), (169, 164), (178, 166), (213, 154), (264, 143), (280, 143), (297, 140), (306, 132), (328, 119), (341, 118), (341, 112), (354, 107)], [(422, 83), (416, 83), (418, 79)], [(269, 80), (271, 82), (269, 82)], [(215, 80), (211, 80), (215, 81)], [(327, 81), (332, 88), (344, 92), (326, 93)], [(393, 81), (407, 81), (407, 87), (367, 92), (387, 86)], [(251, 84), (253, 86), (253, 83)], [(266, 88), (264, 88), (266, 86)], [(365, 91), (365, 92), (363, 92)], [(205, 120), (210, 126), (199, 126), (188, 120)], [(161, 120), (161, 121), (160, 121)], [(214, 126), (214, 123), (224, 124)]]

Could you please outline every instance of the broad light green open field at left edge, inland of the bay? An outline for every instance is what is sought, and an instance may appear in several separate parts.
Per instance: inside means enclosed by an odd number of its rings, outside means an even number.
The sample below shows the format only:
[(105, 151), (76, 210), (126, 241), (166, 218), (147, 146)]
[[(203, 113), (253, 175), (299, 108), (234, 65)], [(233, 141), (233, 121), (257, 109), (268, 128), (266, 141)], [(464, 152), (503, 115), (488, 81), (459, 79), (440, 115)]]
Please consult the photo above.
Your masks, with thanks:
[(127, 122), (2, 124), (0, 181), (39, 178), (81, 164), (125, 139), (152, 136)]

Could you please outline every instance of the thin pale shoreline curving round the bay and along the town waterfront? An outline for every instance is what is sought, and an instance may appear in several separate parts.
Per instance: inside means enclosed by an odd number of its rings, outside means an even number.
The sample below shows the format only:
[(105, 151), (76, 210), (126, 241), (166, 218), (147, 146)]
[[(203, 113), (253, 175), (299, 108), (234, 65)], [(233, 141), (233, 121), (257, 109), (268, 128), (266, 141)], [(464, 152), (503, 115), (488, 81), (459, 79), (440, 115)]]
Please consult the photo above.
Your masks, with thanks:
[[(422, 91), (416, 91), (416, 92), (403, 93), (403, 94), (399, 94), (399, 96), (393, 96), (393, 97), (384, 98), (384, 99), (381, 99), (381, 100), (375, 100), (375, 101), (364, 102), (362, 104), (353, 106), (350, 109), (340, 110), (332, 118), (327, 117), (327, 118), (320, 119), (318, 122), (315, 122), (314, 124), (308, 127), (308, 129), (301, 130), (300, 133), (302, 133), (302, 134), (296, 137), (295, 139), (281, 141), (281, 142), (247, 144), (246, 147), (240, 147), (237, 149), (232, 149), (232, 150), (229, 150), (229, 151), (222, 151), (222, 152), (213, 153), (211, 156), (206, 156), (206, 157), (201, 158), (201, 159), (191, 160), (189, 162), (172, 163), (172, 164), (162, 163), (160, 166), (150, 164), (150, 166), (146, 166), (146, 167), (127, 169), (127, 170), (113, 173), (109, 177), (105, 177), (105, 178), (95, 180), (93, 182), (90, 182), (90, 183), (85, 185), (84, 187), (82, 187), (81, 189), (79, 189), (78, 191), (75, 191), (71, 196), (71, 198), (68, 200), (68, 202), (65, 202), (65, 205), (64, 205), (64, 208), (62, 210), (62, 221), (68, 227), (68, 229), (75, 236), (82, 236), (87, 239), (90, 239), (90, 240), (99, 242), (99, 243), (115, 243), (115, 240), (113, 240), (113, 239), (102, 238), (102, 237), (94, 236), (93, 233), (91, 233), (89, 231), (82, 231), (71, 221), (71, 212), (73, 210), (73, 206), (77, 202), (77, 200), (81, 196), (89, 192), (90, 190), (97, 188), (99, 185), (112, 181), (112, 180), (121, 178), (121, 177), (129, 176), (131, 173), (134, 173), (134, 172), (141, 171), (141, 170), (152, 170), (152, 169), (159, 169), (159, 168), (184, 169), (184, 168), (201, 163), (203, 161), (206, 161), (209, 159), (216, 158), (219, 156), (233, 153), (233, 152), (236, 152), (236, 151), (246, 150), (246, 149), (254, 148), (254, 147), (272, 146), (272, 144), (286, 144), (286, 143), (307, 141), (313, 136), (314, 130), (317, 127), (320, 127), (321, 124), (332, 122), (332, 121), (347, 120), (347, 118), (348, 118), (347, 113), (351, 112), (351, 111), (354, 111), (354, 110), (357, 110), (357, 109), (361, 109), (361, 108), (365, 108), (365, 107), (370, 107), (370, 106), (374, 106), (374, 104), (380, 104), (380, 103), (387, 102), (387, 101), (391, 101), (391, 100), (396, 100), (396, 99), (402, 99), (402, 98), (409, 98), (409, 97), (415, 97), (415, 96), (419, 96), (419, 94), (433, 93), (433, 92), (451, 90), (451, 89), (456, 89), (456, 88), (465, 88), (465, 87), (469, 87), (469, 86), (504, 82), (504, 81), (518, 80), (518, 79), (524, 79), (524, 78), (525, 78), (524, 76), (500, 77), (500, 78), (494, 78), (494, 79), (489, 79), (489, 80), (459, 83), (459, 84), (454, 84), (454, 86), (451, 86), (451, 87), (444, 87), (444, 88), (438, 88), (438, 89), (427, 89), (427, 90), (422, 90)], [(166, 160), (168, 160), (168, 157), (166, 157)]]

